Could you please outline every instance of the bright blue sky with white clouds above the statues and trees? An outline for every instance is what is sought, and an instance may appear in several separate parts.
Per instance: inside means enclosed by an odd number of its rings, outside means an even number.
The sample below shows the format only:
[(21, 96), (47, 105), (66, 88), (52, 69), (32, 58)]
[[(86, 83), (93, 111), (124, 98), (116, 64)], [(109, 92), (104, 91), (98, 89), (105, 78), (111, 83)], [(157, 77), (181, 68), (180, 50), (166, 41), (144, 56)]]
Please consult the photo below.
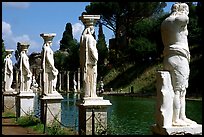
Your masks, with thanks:
[[(174, 2), (168, 2), (165, 11), (169, 12)], [(59, 50), (59, 42), (67, 23), (72, 24), (73, 36), (79, 42), (84, 29), (79, 20), (81, 13), (90, 2), (2, 2), (2, 38), (6, 49), (17, 48), (17, 42), (30, 44), (28, 54), (41, 52), (41, 33), (56, 33), (52, 50)], [(103, 27), (106, 43), (114, 37), (111, 30)], [(95, 27), (96, 38), (98, 27)], [(13, 54), (12, 61), (15, 63)]]

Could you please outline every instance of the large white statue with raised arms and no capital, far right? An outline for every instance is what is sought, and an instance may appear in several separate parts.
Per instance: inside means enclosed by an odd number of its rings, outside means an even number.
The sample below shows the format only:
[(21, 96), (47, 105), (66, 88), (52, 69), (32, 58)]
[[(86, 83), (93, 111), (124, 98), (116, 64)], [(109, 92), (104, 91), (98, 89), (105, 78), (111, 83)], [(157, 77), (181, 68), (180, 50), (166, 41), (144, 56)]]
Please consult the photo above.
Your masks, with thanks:
[(172, 12), (161, 24), (164, 44), (164, 70), (171, 75), (174, 90), (173, 126), (186, 126), (196, 122), (186, 117), (186, 88), (189, 79), (190, 52), (188, 47), (189, 7), (186, 3), (175, 3)]

